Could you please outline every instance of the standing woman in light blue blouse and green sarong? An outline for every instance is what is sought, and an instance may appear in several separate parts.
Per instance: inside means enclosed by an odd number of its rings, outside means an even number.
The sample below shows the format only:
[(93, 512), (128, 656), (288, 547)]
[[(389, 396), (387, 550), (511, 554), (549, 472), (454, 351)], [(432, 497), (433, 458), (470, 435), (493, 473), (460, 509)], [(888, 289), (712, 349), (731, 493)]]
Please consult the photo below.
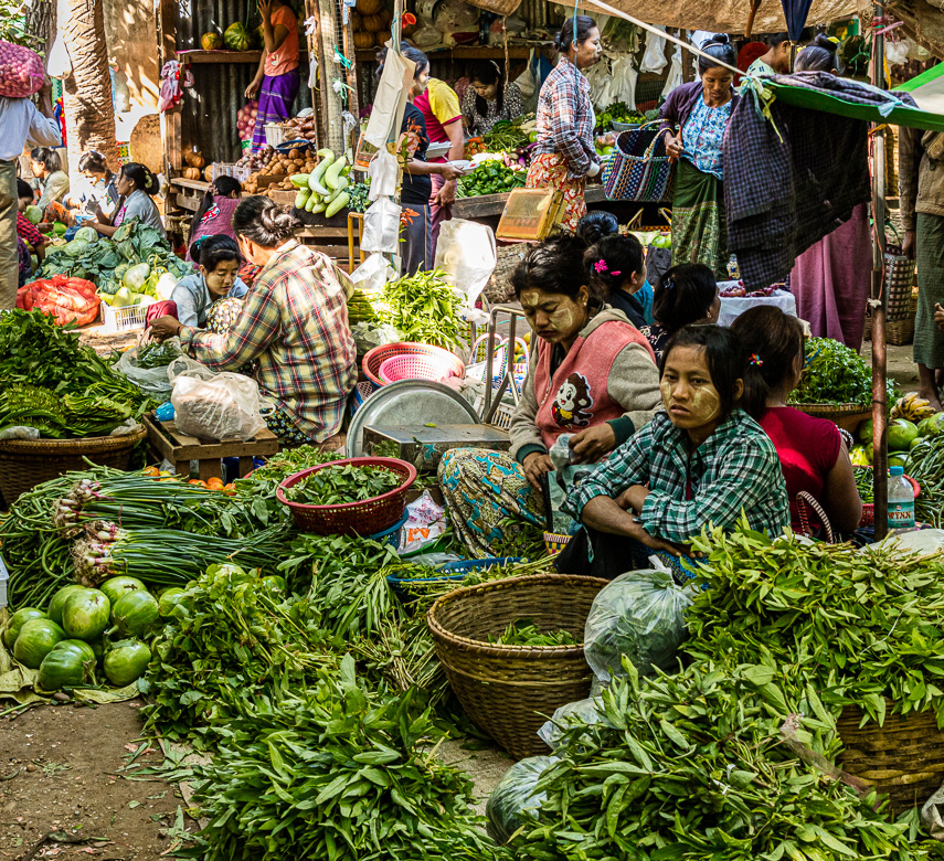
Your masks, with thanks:
[[(723, 33), (713, 35), (701, 50), (729, 66), (736, 62), (734, 47)], [(672, 192), (672, 265), (703, 263), (717, 277), (726, 278), (730, 255), (721, 149), (740, 97), (732, 86), (731, 70), (699, 56), (698, 72), (701, 81), (673, 89), (659, 110), (659, 134), (666, 136), (666, 151), (678, 159)]]

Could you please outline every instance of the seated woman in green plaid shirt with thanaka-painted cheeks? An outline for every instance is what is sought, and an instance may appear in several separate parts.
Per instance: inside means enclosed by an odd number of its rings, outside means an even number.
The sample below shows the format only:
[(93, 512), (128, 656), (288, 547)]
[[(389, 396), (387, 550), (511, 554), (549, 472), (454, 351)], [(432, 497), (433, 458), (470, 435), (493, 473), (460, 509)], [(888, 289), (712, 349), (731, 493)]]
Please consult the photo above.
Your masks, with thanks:
[(627, 551), (634, 567), (654, 552), (678, 557), (707, 525), (732, 529), (742, 512), (771, 536), (789, 527), (776, 448), (736, 406), (744, 355), (734, 336), (718, 326), (687, 327), (669, 343), (660, 372), (666, 412), (568, 497), (585, 535), (561, 555), (562, 571), (613, 577), (627, 570)]

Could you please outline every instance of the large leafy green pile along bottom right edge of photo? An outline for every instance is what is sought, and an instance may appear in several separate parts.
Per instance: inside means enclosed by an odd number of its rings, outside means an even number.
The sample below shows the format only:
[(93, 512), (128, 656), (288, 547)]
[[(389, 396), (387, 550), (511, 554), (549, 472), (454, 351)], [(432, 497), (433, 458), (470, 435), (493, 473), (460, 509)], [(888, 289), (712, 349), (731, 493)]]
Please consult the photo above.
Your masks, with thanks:
[[(569, 725), (512, 838), (524, 861), (918, 861), (918, 811), (893, 823), (828, 761), (835, 725), (813, 687), (788, 704), (766, 667), (628, 666), (603, 720)], [(814, 763), (823, 764), (828, 773)], [(528, 817), (524, 811), (519, 816)]]

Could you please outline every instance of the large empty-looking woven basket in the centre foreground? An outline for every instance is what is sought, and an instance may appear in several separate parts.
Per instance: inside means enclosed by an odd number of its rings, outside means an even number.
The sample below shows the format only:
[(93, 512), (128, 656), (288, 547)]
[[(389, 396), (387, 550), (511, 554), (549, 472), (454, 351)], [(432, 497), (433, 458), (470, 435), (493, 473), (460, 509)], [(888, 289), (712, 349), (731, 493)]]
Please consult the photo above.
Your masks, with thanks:
[(439, 598), (427, 617), (436, 655), (468, 716), (517, 758), (547, 753), (541, 724), (590, 694), (583, 646), (496, 646), (516, 619), (583, 640), (593, 599), (608, 581), (531, 574), (484, 583)]

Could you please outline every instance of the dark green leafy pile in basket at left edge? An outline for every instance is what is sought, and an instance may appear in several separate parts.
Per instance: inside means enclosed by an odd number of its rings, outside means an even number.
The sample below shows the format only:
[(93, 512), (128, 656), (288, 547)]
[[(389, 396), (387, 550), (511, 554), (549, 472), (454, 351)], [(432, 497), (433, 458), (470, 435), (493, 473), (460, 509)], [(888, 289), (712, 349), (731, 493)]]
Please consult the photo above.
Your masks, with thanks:
[(40, 310), (0, 315), (0, 427), (34, 426), (54, 438), (109, 434), (156, 406)]

